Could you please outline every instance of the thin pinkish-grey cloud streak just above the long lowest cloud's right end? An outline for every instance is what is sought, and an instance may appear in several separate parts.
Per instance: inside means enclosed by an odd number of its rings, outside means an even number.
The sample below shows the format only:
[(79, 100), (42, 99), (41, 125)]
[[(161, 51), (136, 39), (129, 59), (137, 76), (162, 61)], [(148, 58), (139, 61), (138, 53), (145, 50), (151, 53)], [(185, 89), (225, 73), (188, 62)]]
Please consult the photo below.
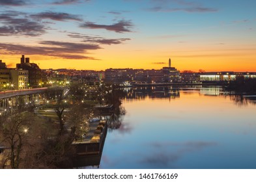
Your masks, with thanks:
[(87, 34), (79, 34), (71, 32), (68, 34), (71, 38), (81, 38), (83, 39), (83, 42), (93, 42), (98, 44), (122, 44), (122, 42), (125, 42), (126, 40), (130, 40), (130, 38), (103, 38), (101, 36), (89, 36)]

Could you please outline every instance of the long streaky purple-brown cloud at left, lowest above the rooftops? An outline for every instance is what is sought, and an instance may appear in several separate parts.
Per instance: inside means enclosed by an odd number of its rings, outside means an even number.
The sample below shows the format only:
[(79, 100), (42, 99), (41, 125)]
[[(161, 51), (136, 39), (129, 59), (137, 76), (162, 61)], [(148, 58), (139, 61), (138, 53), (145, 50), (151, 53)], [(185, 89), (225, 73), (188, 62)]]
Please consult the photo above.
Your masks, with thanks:
[(7, 54), (45, 55), (63, 59), (94, 59), (84, 54), (87, 50), (100, 49), (99, 45), (72, 42), (42, 41), (39, 44), (44, 46), (0, 44), (0, 49)]

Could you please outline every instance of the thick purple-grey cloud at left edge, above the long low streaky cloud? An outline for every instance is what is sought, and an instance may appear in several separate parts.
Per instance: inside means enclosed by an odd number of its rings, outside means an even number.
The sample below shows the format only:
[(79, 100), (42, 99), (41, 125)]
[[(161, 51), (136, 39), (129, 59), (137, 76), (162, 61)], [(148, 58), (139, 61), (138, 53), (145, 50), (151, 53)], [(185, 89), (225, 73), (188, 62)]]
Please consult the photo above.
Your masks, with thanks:
[(3, 25), (0, 25), (0, 36), (40, 36), (46, 32), (42, 23), (25, 18), (25, 14), (21, 12), (0, 14), (0, 23)]

